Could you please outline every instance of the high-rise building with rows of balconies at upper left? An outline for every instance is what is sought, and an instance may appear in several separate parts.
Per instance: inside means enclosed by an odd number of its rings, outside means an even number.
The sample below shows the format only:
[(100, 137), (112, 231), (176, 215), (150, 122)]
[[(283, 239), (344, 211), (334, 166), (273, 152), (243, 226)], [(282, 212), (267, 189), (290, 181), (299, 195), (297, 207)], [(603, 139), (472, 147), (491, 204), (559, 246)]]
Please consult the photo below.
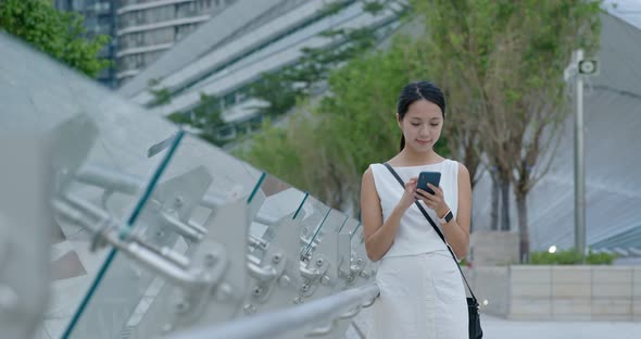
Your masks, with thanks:
[(112, 40), (100, 56), (114, 67), (99, 75), (109, 87), (118, 87), (155, 61), (214, 13), (235, 0), (55, 0), (62, 11), (85, 16), (89, 37)]

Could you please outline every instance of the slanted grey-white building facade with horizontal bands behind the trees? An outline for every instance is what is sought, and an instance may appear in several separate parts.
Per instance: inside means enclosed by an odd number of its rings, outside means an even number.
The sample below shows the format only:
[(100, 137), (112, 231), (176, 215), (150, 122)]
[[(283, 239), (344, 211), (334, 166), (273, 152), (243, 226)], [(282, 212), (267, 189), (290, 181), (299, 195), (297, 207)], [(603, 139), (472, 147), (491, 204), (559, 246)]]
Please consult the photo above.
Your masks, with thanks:
[(340, 39), (324, 33), (368, 27), (380, 40), (399, 25), (393, 9), (373, 14), (363, 1), (238, 0), (120, 91), (150, 106), (155, 97), (149, 84), (158, 80), (156, 88), (172, 98), (168, 104), (150, 109), (160, 116), (189, 114), (201, 104), (201, 95), (217, 97), (224, 122), (217, 138), (231, 140), (238, 131), (260, 125), (256, 106), (265, 103), (248, 96), (252, 84), (266, 73), (296, 65), (304, 49), (340, 48)]

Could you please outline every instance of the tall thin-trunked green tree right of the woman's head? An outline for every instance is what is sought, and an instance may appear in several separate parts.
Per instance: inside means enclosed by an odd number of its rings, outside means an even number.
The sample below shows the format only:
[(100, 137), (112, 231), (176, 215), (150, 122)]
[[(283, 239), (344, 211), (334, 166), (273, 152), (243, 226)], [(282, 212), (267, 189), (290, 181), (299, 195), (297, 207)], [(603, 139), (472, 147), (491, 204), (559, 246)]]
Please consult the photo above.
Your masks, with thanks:
[[(482, 131), (488, 166), (512, 184), (520, 256), (527, 261), (527, 194), (546, 173), (565, 121), (563, 70), (576, 48), (594, 51), (600, 1), (413, 1), (445, 86), (465, 93), (464, 118)], [(465, 96), (461, 98), (465, 102)], [(466, 113), (463, 112), (463, 113)]]

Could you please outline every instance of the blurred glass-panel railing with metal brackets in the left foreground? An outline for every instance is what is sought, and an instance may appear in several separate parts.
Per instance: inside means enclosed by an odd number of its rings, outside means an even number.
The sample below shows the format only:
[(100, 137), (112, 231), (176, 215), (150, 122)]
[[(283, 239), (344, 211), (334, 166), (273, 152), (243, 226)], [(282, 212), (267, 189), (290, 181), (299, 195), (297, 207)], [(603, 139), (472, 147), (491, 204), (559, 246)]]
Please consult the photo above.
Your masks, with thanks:
[(320, 323), (284, 336), (334, 338), (372, 302), (359, 221), (0, 47), (0, 134), (21, 135), (0, 142), (0, 337), (158, 338), (297, 310)]

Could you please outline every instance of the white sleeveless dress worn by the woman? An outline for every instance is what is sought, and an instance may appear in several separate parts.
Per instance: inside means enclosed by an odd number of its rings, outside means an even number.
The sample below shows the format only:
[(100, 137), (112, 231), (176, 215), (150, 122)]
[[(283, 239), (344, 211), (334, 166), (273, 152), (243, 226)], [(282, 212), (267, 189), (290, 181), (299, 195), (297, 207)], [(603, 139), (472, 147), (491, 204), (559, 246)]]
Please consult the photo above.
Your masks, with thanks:
[[(401, 199), (403, 188), (382, 164), (369, 166), (384, 221)], [(441, 173), (440, 187), (454, 217), (458, 208), (458, 163), (452, 160), (394, 167), (407, 181), (423, 171)], [(423, 202), (420, 202), (423, 204)], [(423, 205), (440, 227), (435, 211)], [(439, 235), (412, 205), (378, 267), (380, 298), (372, 306), (367, 339), (467, 339), (468, 317), (461, 273)]]

